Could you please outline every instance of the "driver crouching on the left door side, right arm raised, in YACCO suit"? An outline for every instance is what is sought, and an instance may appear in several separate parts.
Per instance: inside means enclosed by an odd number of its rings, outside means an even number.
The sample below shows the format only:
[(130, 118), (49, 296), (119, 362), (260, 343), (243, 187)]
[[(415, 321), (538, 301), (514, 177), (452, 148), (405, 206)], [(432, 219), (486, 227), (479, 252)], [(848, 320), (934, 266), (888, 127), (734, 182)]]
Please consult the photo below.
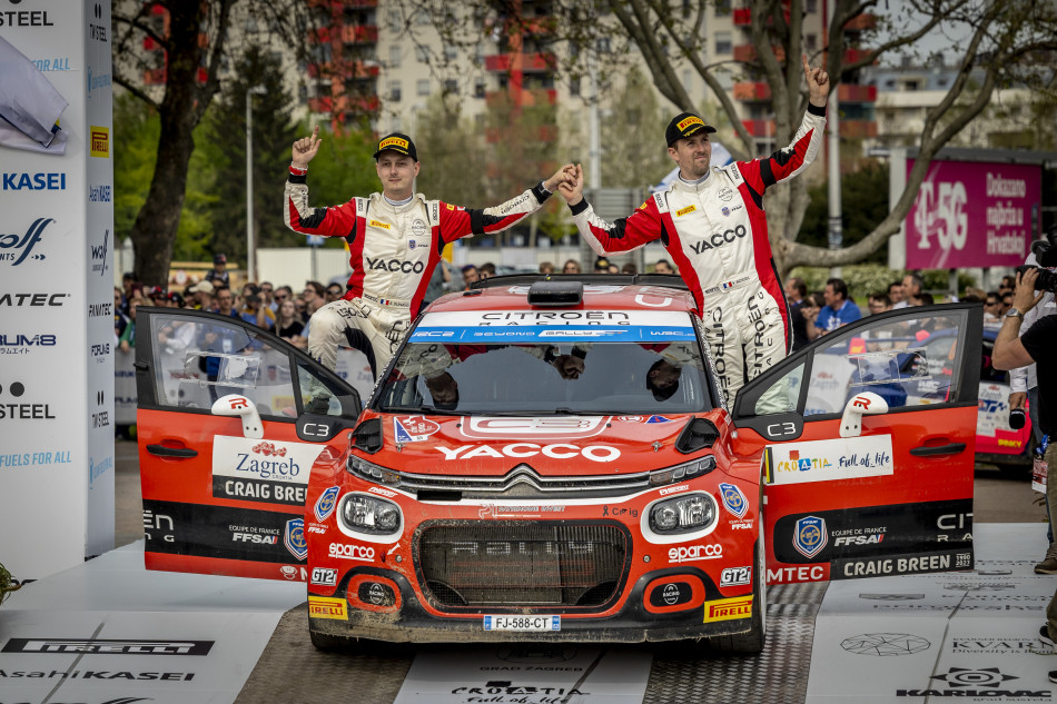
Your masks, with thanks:
[(383, 137), (374, 158), (382, 192), (330, 208), (308, 205), (308, 162), (319, 151), (319, 128), (294, 142), (286, 182), (287, 227), (305, 235), (344, 237), (352, 276), (343, 298), (313, 314), (308, 354), (334, 369), (337, 347), (360, 349), (377, 377), (418, 315), (433, 269), (448, 242), (467, 235), (498, 232), (535, 212), (565, 180), (562, 167), (516, 198), (472, 210), (414, 192), (419, 162), (411, 137)]

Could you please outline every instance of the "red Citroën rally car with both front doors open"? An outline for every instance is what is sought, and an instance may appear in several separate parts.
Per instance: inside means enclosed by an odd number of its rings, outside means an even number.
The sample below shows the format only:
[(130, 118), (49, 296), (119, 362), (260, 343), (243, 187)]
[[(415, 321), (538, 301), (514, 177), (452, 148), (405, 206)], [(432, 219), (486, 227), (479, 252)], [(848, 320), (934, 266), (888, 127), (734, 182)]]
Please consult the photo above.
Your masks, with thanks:
[(363, 409), (251, 325), (139, 315), (147, 566), (307, 582), (320, 647), (757, 652), (765, 583), (972, 566), (978, 305), (840, 328), (733, 408), (674, 277), (446, 296)]

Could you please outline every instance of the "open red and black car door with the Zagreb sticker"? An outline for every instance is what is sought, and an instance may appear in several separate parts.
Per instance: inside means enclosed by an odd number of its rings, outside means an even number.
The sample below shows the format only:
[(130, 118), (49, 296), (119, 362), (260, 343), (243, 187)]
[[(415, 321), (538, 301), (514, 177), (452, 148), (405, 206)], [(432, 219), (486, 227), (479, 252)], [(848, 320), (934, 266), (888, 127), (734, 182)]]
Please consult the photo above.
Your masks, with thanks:
[(147, 568), (305, 581), (308, 476), (358, 395), (237, 318), (140, 307), (137, 328)]

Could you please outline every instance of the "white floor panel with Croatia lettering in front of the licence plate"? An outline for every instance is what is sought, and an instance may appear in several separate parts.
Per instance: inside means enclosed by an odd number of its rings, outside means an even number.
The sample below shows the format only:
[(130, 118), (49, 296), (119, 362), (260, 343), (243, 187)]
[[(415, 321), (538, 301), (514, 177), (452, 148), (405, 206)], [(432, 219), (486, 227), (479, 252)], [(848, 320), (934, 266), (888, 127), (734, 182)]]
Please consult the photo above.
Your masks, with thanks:
[(394, 704), (640, 704), (649, 653), (567, 644), (418, 653)]

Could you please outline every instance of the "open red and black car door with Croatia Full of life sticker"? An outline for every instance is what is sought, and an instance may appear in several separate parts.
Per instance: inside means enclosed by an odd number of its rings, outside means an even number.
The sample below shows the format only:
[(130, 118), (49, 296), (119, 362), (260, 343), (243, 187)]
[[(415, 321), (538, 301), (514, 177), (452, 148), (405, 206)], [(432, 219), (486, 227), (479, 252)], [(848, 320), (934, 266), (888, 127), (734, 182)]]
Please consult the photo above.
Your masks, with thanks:
[(972, 567), (979, 304), (863, 318), (739, 393), (762, 447), (768, 582)]

